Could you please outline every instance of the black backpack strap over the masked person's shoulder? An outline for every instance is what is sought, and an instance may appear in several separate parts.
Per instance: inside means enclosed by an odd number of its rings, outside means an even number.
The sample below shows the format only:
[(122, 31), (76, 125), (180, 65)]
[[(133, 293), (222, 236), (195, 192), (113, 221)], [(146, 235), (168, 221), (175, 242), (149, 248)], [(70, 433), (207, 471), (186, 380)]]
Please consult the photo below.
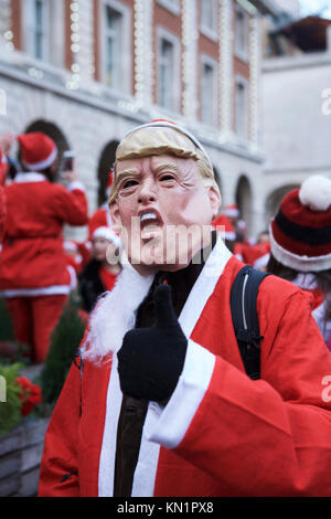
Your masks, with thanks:
[(241, 356), (247, 375), (260, 378), (260, 346), (258, 316), (256, 310), (257, 292), (268, 273), (245, 265), (237, 274), (231, 290), (232, 320)]

